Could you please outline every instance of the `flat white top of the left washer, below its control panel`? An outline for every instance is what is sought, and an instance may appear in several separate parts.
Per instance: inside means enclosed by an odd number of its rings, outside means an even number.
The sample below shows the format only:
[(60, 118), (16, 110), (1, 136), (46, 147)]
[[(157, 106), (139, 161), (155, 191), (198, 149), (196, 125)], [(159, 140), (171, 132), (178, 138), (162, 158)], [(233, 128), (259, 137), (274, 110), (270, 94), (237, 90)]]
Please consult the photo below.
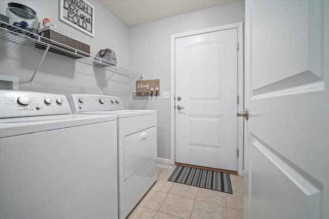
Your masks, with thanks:
[(0, 138), (116, 121), (116, 115), (63, 114), (0, 119)]

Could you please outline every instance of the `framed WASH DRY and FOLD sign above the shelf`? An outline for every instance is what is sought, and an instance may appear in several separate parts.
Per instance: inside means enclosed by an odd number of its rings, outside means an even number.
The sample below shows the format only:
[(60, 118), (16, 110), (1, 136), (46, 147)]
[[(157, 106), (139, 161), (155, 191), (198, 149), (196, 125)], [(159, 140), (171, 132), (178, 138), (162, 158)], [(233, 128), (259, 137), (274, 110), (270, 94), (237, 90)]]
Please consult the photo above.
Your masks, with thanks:
[(60, 21), (94, 37), (95, 7), (85, 0), (59, 0)]

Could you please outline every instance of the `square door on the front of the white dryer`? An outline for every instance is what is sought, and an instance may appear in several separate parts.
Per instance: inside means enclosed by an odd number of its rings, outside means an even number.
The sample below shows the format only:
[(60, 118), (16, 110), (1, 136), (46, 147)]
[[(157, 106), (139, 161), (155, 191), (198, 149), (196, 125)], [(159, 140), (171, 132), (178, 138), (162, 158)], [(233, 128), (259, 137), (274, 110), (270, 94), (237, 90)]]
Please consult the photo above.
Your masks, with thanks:
[(156, 156), (156, 136), (152, 127), (124, 137), (124, 181)]

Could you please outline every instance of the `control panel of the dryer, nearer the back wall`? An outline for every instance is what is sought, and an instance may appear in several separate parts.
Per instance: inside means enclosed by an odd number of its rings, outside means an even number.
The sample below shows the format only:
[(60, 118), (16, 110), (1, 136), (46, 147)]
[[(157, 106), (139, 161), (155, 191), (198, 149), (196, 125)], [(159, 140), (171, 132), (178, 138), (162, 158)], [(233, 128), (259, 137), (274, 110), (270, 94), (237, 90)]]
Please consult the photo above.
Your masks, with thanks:
[(67, 97), (72, 112), (122, 110), (119, 97), (97, 94), (72, 94)]

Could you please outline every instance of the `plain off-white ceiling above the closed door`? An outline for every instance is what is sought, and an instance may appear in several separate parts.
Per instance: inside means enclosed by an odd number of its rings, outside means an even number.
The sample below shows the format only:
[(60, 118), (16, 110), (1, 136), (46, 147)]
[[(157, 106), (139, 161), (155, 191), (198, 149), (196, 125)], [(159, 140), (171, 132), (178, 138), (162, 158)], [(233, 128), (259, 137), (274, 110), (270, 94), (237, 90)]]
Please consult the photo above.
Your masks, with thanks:
[(99, 0), (127, 26), (241, 0)]

